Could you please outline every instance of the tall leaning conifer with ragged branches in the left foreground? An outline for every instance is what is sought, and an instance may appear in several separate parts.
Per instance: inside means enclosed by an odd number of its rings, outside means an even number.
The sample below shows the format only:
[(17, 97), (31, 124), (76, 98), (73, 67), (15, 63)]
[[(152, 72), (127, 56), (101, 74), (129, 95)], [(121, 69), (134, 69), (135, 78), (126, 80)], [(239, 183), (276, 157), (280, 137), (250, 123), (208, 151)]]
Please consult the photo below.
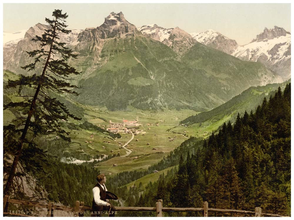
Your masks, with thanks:
[[(66, 120), (68, 117), (78, 119), (69, 112), (63, 103), (50, 96), (52, 92), (78, 95), (72, 90), (77, 87), (71, 85), (67, 80), (70, 79), (71, 75), (79, 74), (67, 62), (70, 58), (76, 58), (77, 55), (65, 47), (66, 43), (59, 41), (60, 33), (68, 34), (71, 32), (65, 29), (67, 27), (65, 20), (68, 15), (63, 14), (61, 10), (54, 10), (52, 16), (52, 20), (45, 19), (49, 28), (45, 30), (44, 34), (32, 39), (32, 41), (40, 42), (41, 48), (27, 52), (34, 61), (22, 67), (25, 70), (33, 71), (34, 74), (32, 76), (21, 75), (17, 80), (9, 80), (6, 86), (6, 88), (18, 87), (19, 97), (22, 97), (24, 101), (10, 102), (4, 106), (4, 109), (16, 108), (20, 112), (20, 116), (14, 120), (14, 123), (4, 126), (4, 138), (11, 133), (14, 134), (15, 138), (13, 141), (15, 146), (13, 149), (14, 160), (4, 195), (9, 194), (24, 145), (34, 147), (34, 137), (46, 133), (46, 131), (56, 132), (61, 138), (70, 141), (70, 138), (65, 136), (68, 133), (59, 126), (59, 121)], [(38, 72), (38, 69), (40, 69), (38, 67), (41, 65), (42, 70)], [(23, 87), (34, 89), (34, 95), (21, 94)]]

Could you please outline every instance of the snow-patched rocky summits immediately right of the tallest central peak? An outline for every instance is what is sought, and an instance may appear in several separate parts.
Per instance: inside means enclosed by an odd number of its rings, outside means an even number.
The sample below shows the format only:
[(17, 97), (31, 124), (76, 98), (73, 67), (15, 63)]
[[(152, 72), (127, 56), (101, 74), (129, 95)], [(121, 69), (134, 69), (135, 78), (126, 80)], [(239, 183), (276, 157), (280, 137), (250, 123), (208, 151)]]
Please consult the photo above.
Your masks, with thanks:
[(139, 27), (138, 30), (143, 35), (168, 45), (179, 55), (183, 55), (196, 43), (196, 40), (190, 34), (179, 27), (166, 29), (151, 24)]

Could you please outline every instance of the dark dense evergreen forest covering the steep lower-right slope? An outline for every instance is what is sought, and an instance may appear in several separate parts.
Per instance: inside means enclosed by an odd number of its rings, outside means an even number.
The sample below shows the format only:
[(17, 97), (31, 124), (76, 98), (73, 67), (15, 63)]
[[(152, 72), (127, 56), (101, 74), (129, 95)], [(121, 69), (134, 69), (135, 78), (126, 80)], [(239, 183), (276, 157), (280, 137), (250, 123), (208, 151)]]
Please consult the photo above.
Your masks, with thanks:
[(264, 98), (255, 113), (238, 114), (234, 126), (224, 123), (201, 148), (199, 141), (187, 140), (176, 149), (181, 152), (178, 171), (161, 176), (141, 192), (130, 188), (124, 193), (128, 195), (125, 206), (152, 207), (163, 199), (163, 207), (202, 207), (208, 201), (211, 208), (254, 211), (261, 207), (263, 213), (290, 215), (290, 102), (291, 85), (287, 84), (284, 92), (279, 87), (269, 100)]

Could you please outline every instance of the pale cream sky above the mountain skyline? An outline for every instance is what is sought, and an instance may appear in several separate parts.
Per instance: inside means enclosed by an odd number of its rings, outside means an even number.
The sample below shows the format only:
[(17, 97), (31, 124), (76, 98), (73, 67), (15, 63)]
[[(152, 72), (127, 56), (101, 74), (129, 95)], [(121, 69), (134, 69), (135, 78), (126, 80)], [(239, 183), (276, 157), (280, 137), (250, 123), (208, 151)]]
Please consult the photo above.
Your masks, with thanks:
[(3, 31), (14, 33), (45, 24), (54, 9), (67, 12), (68, 28), (98, 27), (112, 11), (122, 11), (126, 20), (140, 27), (157, 24), (178, 26), (188, 33), (213, 29), (239, 45), (249, 43), (264, 28), (290, 30), (291, 5), (288, 4), (4, 4)]

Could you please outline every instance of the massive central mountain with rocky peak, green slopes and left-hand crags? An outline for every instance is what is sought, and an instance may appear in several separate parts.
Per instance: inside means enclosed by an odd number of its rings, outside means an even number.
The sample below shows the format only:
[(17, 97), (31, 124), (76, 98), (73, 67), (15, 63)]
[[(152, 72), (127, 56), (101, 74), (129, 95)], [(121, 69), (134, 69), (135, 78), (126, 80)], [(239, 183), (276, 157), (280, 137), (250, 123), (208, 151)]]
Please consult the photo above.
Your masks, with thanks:
[[(14, 60), (6, 56), (5, 69), (15, 71), (13, 68), (19, 70), (27, 64), (25, 51), (38, 47), (29, 37), (42, 28), (46, 26), (37, 24), (30, 28), (14, 52), (10, 51)], [(203, 111), (224, 103), (249, 86), (281, 81), (264, 66), (219, 53), (197, 43), (180, 28), (173, 28), (165, 39), (166, 43), (172, 42), (168, 47), (144, 36), (121, 12), (112, 12), (97, 28), (75, 34), (61, 40), (67, 40), (67, 46), (78, 54), (77, 60), (69, 62), (82, 73), (75, 79), (82, 87), (77, 99), (88, 105), (104, 105), (111, 110), (126, 109), (131, 104), (139, 109)], [(189, 38), (185, 39), (187, 35)], [(176, 48), (178, 42), (183, 50)], [(219, 62), (226, 64), (226, 70)]]

